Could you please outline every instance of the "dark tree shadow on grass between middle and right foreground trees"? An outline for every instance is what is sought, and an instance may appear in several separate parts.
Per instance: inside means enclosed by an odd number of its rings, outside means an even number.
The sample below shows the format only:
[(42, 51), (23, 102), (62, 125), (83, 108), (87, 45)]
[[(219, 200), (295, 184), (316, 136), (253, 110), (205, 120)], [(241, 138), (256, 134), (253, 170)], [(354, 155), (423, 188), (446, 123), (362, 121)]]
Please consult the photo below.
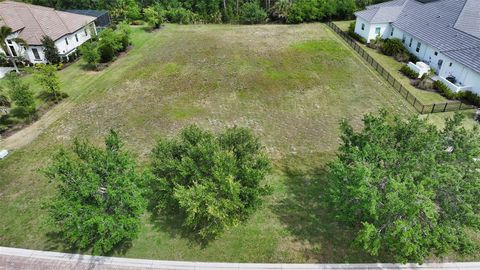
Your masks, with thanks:
[(319, 263), (389, 261), (356, 247), (354, 230), (335, 221), (326, 202), (328, 172), (325, 165), (299, 169), (284, 162), (282, 170), (286, 195), (274, 206), (274, 211), (294, 239), (302, 243), (307, 260)]

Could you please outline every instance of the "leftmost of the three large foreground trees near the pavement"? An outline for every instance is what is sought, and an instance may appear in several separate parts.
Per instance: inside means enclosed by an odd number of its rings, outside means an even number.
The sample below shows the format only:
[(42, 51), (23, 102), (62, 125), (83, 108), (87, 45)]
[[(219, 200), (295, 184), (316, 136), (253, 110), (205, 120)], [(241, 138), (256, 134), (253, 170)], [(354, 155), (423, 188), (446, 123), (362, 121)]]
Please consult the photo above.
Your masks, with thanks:
[(108, 254), (135, 239), (145, 210), (142, 183), (146, 175), (123, 151), (114, 131), (106, 149), (75, 140), (71, 150), (54, 156), (45, 175), (56, 193), (46, 208), (60, 237), (73, 248)]

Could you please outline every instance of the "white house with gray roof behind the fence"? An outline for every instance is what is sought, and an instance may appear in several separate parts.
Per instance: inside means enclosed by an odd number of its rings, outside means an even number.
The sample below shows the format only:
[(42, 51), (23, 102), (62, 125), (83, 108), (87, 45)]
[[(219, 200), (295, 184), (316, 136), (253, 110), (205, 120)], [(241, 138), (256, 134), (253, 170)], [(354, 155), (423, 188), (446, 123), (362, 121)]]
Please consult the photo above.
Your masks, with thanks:
[(393, 0), (355, 15), (367, 41), (398, 38), (450, 89), (480, 94), (480, 0)]

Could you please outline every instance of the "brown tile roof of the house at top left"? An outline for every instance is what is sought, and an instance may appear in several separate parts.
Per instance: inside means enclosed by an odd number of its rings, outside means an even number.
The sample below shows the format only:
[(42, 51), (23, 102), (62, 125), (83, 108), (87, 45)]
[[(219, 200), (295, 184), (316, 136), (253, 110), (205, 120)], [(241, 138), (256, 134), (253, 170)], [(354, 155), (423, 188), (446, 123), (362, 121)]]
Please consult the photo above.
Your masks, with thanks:
[(20, 30), (19, 37), (29, 45), (40, 45), (44, 35), (57, 40), (95, 19), (20, 2), (0, 2), (0, 26), (7, 25), (14, 32)]

